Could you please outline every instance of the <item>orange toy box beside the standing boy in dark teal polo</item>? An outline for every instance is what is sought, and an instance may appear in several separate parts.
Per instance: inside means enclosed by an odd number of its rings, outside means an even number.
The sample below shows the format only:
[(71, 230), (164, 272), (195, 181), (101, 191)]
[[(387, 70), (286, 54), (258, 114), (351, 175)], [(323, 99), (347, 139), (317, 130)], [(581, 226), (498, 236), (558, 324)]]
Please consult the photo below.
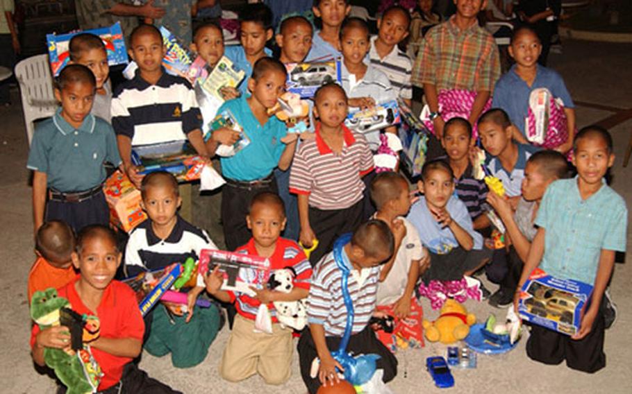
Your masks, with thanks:
[(121, 171), (115, 171), (106, 180), (103, 194), (110, 207), (110, 223), (115, 227), (130, 232), (147, 219), (147, 214), (140, 207), (140, 191)]

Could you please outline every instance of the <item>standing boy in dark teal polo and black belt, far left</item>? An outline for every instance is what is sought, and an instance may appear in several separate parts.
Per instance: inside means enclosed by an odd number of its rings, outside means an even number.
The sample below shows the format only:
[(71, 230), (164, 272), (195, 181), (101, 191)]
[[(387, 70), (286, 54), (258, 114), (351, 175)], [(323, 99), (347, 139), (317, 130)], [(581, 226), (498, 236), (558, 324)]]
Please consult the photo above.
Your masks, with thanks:
[(121, 164), (110, 123), (90, 114), (97, 82), (82, 65), (68, 65), (57, 78), (56, 114), (35, 128), (26, 167), (33, 170), (33, 230), (46, 221), (108, 225), (109, 209), (101, 189), (104, 162)]

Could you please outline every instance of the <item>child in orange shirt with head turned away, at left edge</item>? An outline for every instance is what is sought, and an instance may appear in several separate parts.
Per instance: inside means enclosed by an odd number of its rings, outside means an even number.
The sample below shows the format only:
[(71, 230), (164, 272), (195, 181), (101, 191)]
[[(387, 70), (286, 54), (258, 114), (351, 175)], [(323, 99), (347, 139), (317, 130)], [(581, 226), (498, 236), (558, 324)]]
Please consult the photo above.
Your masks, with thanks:
[(28, 304), (35, 291), (57, 289), (76, 277), (70, 255), (74, 251), (74, 233), (63, 221), (44, 223), (35, 236), (38, 259), (28, 273)]

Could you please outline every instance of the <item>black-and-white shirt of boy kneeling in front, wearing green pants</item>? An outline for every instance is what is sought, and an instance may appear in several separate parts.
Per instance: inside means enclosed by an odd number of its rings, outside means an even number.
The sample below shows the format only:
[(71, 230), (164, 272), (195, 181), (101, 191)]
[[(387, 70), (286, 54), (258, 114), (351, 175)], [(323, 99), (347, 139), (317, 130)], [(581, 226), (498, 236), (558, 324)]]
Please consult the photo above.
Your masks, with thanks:
[(202, 249), (217, 249), (206, 231), (179, 215), (176, 219), (176, 225), (165, 239), (153, 232), (151, 219), (132, 230), (125, 249), (126, 275), (132, 277), (144, 271), (160, 270), (174, 262), (184, 263), (189, 257), (197, 261)]

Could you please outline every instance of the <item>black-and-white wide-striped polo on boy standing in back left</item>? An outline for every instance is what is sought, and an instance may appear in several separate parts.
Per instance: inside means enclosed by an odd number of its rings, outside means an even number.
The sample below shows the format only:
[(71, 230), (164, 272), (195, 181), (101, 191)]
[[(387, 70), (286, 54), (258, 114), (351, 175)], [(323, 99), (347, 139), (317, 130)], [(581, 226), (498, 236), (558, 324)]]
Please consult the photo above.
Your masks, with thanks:
[(191, 84), (164, 69), (156, 85), (147, 83), (140, 70), (119, 85), (111, 114), (114, 131), (130, 137), (132, 146), (185, 140), (189, 132), (202, 126)]

